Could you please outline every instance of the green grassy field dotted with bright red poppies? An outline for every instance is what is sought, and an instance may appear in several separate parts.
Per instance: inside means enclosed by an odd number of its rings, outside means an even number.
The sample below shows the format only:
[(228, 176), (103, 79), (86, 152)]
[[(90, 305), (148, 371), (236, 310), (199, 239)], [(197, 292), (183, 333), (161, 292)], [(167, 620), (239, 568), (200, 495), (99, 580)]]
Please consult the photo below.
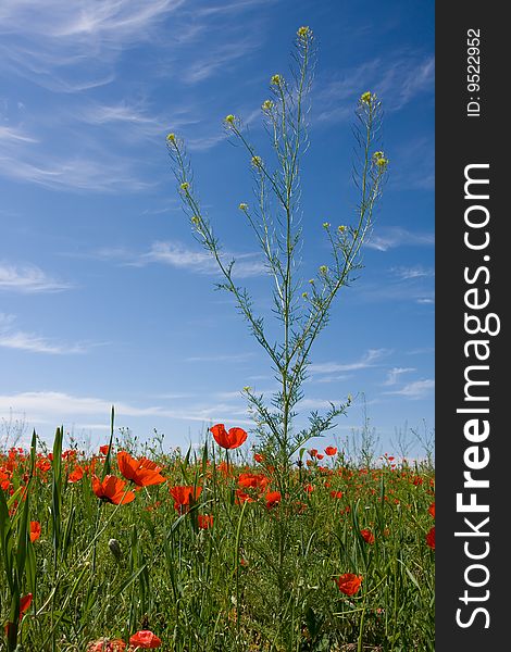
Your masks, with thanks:
[(62, 439), (0, 454), (0, 650), (434, 650), (429, 466)]

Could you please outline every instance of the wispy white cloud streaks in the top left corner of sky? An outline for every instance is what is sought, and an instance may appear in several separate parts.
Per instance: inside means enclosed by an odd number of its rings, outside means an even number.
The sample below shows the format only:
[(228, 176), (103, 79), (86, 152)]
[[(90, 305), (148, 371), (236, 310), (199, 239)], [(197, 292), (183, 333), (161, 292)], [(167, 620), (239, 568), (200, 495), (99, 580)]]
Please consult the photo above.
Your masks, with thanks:
[(107, 84), (125, 48), (147, 42), (185, 0), (4, 0), (0, 66), (52, 90)]

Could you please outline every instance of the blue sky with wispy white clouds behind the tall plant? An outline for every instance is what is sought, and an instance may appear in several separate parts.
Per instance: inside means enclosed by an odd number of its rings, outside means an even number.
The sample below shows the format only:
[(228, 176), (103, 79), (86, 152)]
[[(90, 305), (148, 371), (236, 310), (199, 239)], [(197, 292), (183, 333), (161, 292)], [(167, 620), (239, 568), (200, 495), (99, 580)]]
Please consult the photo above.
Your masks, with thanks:
[(165, 136), (187, 142), (201, 201), (270, 316), (269, 279), (237, 209), (252, 197), (250, 166), (222, 121), (241, 116), (264, 142), (260, 105), (301, 25), (317, 46), (304, 277), (327, 255), (322, 224), (353, 221), (351, 126), (366, 90), (383, 101), (390, 168), (364, 268), (317, 340), (300, 409), (357, 397), (320, 446), (360, 429), (364, 410), (382, 451), (406, 425), (433, 428), (434, 10), (394, 0), (3, 0), (4, 423), (47, 439), (63, 424), (103, 442), (113, 404), (117, 426), (142, 440), (155, 428), (172, 447), (213, 423), (249, 428), (240, 390), (271, 392), (270, 364), (214, 291)]

